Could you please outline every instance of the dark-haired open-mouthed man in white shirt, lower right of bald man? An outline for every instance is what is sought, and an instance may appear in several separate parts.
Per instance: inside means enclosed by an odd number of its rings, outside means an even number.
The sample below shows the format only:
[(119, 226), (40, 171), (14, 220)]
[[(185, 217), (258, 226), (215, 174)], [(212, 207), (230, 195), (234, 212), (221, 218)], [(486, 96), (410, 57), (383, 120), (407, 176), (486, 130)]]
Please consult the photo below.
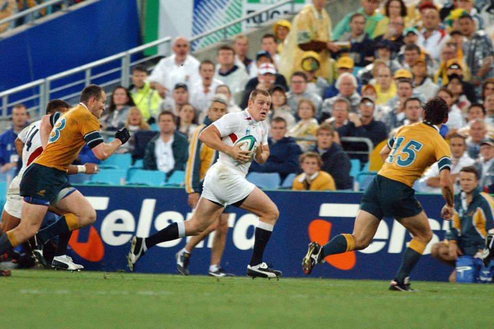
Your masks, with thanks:
[(214, 79), (215, 64), (209, 60), (204, 60), (199, 65), (200, 80), (192, 81), (190, 87), (190, 104), (196, 109), (196, 113), (201, 113), (208, 109), (209, 100), (216, 94), (215, 90), (222, 82)]

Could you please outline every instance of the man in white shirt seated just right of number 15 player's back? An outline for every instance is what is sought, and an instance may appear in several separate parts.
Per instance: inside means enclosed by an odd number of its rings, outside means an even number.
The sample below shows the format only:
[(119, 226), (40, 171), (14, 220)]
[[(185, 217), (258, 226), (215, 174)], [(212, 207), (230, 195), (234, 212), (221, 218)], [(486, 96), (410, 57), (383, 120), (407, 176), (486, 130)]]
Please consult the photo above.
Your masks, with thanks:
[[(460, 170), (463, 167), (473, 166), (475, 160), (468, 156), (465, 152), (467, 144), (465, 143), (465, 136), (460, 134), (453, 134), (449, 140), (449, 148), (451, 149), (451, 179), (453, 181), (454, 193), (460, 192), (460, 187), (455, 184)], [(439, 167), (437, 163), (434, 163), (424, 173), (422, 178), (417, 181), (414, 187), (417, 192), (423, 193), (441, 193), (441, 187), (439, 185)]]

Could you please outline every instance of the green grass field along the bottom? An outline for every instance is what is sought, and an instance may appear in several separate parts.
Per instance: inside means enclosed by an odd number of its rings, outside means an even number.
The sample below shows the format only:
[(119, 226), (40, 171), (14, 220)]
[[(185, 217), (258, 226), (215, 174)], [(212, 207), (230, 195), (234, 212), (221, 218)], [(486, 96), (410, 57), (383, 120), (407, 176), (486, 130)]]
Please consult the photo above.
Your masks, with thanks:
[(491, 328), (494, 284), (15, 270), (0, 328)]

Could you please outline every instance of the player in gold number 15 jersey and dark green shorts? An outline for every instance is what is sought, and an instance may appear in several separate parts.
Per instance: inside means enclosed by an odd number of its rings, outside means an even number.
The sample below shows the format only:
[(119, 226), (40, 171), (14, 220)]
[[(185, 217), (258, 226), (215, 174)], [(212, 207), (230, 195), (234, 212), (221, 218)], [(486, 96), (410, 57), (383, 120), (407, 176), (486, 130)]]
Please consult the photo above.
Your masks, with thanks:
[(388, 141), (380, 152), (384, 165), (362, 197), (354, 232), (339, 234), (324, 246), (311, 242), (302, 261), (306, 274), (327, 255), (365, 249), (376, 234), (382, 217), (394, 217), (410, 231), (413, 239), (403, 254), (390, 290), (413, 290), (410, 288), (410, 272), (432, 239), (432, 231), (412, 186), (436, 161), (441, 191), (446, 200), (441, 215), (450, 220), (454, 213), (451, 154), (448, 144), (439, 135), (440, 126), (448, 121), (448, 111), (446, 102), (436, 97), (424, 107), (424, 122), (402, 127)]

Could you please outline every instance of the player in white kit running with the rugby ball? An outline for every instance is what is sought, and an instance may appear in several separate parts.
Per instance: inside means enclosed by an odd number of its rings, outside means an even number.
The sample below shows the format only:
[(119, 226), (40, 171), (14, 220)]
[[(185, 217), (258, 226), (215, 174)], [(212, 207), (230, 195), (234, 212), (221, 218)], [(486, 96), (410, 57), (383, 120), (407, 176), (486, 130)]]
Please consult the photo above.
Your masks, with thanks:
[[(262, 261), (264, 248), (278, 219), (278, 208), (264, 192), (245, 179), (253, 159), (264, 163), (269, 157), (268, 124), (264, 120), (270, 106), (270, 94), (266, 90), (255, 89), (245, 111), (226, 114), (201, 132), (199, 139), (220, 154), (217, 162), (206, 173), (196, 211), (189, 221), (170, 224), (146, 238), (132, 237), (127, 257), (131, 271), (139, 258), (152, 246), (201, 233), (218, 218), (227, 205), (233, 205), (259, 217), (247, 275), (269, 279), (281, 275), (281, 271), (269, 268)], [(240, 144), (234, 144), (247, 135), (254, 136), (257, 141), (253, 157), (249, 156), (249, 151), (240, 150)]]

